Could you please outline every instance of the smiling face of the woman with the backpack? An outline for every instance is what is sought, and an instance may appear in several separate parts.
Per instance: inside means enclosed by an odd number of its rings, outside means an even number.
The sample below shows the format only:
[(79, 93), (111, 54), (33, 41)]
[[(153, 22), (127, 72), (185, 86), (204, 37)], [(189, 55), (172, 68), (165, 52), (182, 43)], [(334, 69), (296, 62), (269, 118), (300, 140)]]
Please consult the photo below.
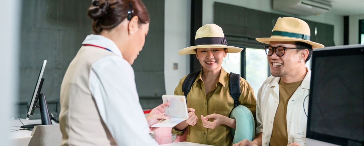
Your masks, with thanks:
[(221, 68), (222, 60), (226, 57), (227, 50), (224, 48), (198, 48), (196, 57), (203, 69), (213, 71)]

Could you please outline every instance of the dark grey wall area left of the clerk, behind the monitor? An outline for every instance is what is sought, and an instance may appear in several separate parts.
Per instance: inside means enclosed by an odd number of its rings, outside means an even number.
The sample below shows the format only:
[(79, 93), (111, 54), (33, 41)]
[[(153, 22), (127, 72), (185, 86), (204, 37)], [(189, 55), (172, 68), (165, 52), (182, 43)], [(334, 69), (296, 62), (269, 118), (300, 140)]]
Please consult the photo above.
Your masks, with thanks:
[[(20, 40), (20, 94), (17, 118), (25, 118), (43, 60), (42, 92), (58, 117), (60, 85), (84, 38), (91, 34), (90, 0), (23, 0)], [(58, 110), (56, 106), (58, 105)], [(37, 109), (33, 118), (39, 118)]]

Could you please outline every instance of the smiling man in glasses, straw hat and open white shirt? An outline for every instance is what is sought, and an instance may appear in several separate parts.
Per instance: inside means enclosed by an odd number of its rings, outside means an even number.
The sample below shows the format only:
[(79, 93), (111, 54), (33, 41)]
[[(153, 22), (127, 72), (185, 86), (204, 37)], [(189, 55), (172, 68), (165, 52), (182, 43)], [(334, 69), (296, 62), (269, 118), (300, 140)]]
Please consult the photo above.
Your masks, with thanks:
[(278, 18), (270, 38), (257, 38), (269, 44), (271, 77), (258, 91), (256, 137), (233, 146), (304, 146), (307, 125), (311, 71), (305, 63), (312, 49), (324, 45), (310, 41), (308, 24), (293, 17)]

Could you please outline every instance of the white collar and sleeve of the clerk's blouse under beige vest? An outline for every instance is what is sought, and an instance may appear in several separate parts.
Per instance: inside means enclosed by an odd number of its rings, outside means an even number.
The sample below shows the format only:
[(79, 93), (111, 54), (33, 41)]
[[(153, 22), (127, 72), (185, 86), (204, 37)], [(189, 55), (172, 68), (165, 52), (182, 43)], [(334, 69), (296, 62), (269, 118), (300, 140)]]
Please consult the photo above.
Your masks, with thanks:
[[(134, 70), (116, 44), (101, 35), (88, 35), (82, 44), (101, 46), (116, 55), (91, 65), (89, 88), (99, 113), (119, 146), (154, 146), (134, 80)], [(102, 48), (100, 48), (102, 49)]]

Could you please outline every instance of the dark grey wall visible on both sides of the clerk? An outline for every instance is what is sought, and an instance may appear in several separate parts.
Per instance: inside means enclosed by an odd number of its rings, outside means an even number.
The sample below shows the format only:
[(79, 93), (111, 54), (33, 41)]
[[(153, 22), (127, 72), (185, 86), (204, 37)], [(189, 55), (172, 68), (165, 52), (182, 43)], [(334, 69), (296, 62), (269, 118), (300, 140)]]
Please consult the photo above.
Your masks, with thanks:
[[(142, 107), (161, 104), (164, 85), (164, 0), (145, 0), (151, 23), (145, 46), (133, 68)], [(92, 34), (87, 9), (91, 0), (23, 0), (20, 44), (20, 91), (16, 118), (25, 118), (43, 60), (47, 60), (41, 93), (55, 117), (60, 85), (67, 67)], [(159, 98), (157, 98), (159, 97)], [(36, 109), (34, 118), (40, 118)]]

